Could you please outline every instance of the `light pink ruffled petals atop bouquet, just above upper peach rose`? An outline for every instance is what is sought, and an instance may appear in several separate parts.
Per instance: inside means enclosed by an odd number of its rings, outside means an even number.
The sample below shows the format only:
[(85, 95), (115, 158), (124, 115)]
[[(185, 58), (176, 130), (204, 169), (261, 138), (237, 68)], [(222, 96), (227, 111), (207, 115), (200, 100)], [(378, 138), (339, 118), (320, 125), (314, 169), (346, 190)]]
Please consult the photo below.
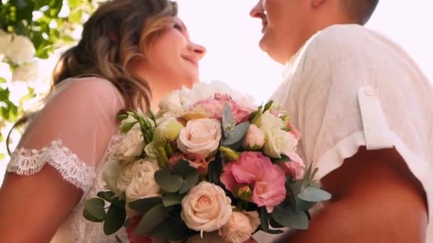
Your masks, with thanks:
[(204, 117), (221, 120), (224, 104), (229, 104), (236, 124), (248, 120), (249, 115), (253, 112), (250, 108), (234, 102), (229, 95), (221, 94), (215, 94), (214, 99), (199, 100), (188, 112), (201, 113)]

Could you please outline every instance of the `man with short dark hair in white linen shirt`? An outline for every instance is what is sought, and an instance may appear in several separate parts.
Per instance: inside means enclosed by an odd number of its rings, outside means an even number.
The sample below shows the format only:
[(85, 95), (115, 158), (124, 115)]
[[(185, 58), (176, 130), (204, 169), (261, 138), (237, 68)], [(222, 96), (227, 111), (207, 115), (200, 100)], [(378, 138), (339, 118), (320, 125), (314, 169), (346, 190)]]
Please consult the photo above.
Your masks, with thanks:
[[(281, 242), (419, 242), (433, 206), (432, 85), (363, 25), (378, 0), (260, 0), (260, 47), (286, 65), (273, 99), (333, 195)], [(430, 229), (432, 230), (432, 229)]]

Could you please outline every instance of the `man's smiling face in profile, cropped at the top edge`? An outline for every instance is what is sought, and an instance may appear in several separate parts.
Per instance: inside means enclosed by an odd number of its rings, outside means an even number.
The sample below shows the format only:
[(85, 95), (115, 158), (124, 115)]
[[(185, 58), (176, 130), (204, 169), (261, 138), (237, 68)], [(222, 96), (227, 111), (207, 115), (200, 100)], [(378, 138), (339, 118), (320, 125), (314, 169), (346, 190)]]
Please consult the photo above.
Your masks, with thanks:
[(308, 39), (309, 0), (260, 0), (250, 14), (262, 22), (260, 48), (278, 63), (286, 63)]

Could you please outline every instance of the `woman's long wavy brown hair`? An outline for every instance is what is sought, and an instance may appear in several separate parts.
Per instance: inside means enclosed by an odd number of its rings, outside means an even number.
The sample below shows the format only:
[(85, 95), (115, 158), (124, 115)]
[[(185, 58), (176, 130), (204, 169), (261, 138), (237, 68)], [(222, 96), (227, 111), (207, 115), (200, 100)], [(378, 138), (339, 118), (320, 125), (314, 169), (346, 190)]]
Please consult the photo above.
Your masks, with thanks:
[[(130, 66), (137, 58), (146, 58), (152, 41), (175, 16), (177, 4), (169, 0), (111, 0), (101, 4), (84, 24), (78, 44), (61, 55), (51, 92), (69, 77), (101, 77), (119, 90), (125, 109), (147, 110), (152, 98), (150, 85), (131, 72)], [(30, 117), (21, 117), (11, 131)], [(9, 154), (11, 131), (6, 138)]]

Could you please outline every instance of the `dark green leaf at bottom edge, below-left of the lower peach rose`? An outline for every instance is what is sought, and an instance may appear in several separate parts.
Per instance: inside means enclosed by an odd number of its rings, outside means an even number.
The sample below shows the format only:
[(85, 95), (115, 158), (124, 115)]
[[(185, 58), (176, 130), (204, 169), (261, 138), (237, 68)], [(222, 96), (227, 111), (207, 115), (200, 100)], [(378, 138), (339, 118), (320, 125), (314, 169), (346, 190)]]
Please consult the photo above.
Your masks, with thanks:
[(197, 234), (197, 232), (189, 229), (182, 220), (166, 217), (165, 220), (150, 232), (149, 236), (165, 241), (178, 241), (192, 237), (194, 234)]

